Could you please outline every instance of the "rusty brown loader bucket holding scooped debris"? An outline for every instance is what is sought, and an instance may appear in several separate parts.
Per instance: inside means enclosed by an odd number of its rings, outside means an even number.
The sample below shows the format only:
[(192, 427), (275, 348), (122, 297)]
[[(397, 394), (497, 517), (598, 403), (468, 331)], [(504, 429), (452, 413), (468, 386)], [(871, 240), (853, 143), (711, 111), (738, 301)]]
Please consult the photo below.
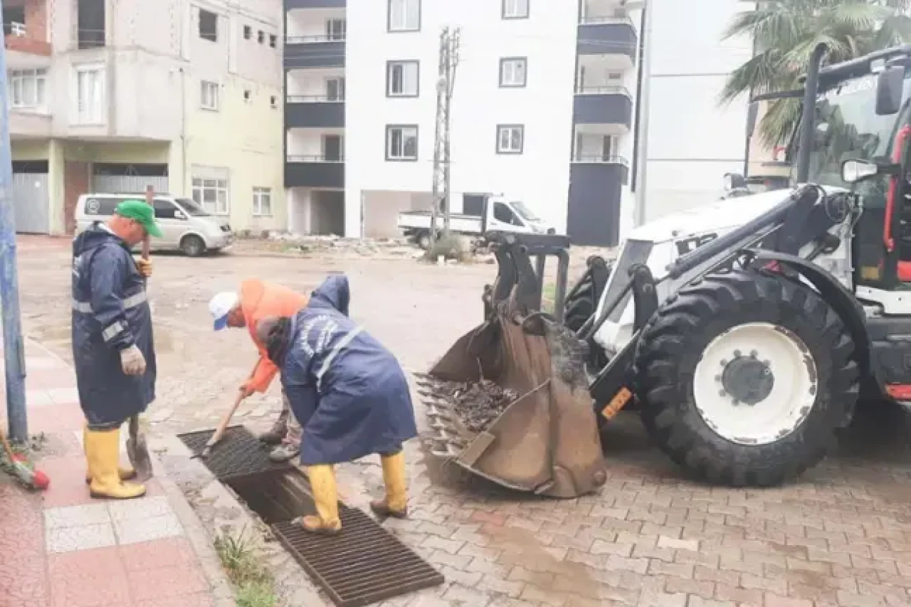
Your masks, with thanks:
[[(497, 260), (518, 266), (506, 300), (487, 302), (486, 323), (417, 377), (432, 451), (511, 489), (557, 498), (589, 493), (607, 473), (585, 374), (587, 346), (522, 303), (531, 301), (522, 293), (530, 284), (523, 274), (533, 275), (527, 254)], [(501, 268), (486, 297), (503, 289), (500, 279), (516, 265)]]

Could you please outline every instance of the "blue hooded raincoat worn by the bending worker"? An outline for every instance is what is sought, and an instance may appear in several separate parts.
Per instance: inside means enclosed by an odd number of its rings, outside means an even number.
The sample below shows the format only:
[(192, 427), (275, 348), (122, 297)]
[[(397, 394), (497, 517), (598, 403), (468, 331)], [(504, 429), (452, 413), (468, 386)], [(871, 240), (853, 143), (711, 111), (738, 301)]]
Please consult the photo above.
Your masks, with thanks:
[(348, 318), (348, 279), (330, 276), (294, 318), (281, 384), (303, 427), (301, 463), (392, 454), (417, 436), (394, 355)]

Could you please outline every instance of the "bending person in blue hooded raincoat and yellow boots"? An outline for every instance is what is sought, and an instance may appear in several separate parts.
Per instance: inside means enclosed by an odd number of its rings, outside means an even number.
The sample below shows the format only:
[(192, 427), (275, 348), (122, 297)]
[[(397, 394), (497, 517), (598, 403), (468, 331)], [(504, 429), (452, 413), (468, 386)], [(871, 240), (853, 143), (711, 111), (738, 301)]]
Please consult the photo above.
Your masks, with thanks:
[(381, 456), (386, 495), (371, 509), (407, 515), (402, 443), (417, 435), (411, 394), (394, 355), (348, 318), (348, 302), (348, 279), (333, 275), (296, 316), (264, 319), (257, 327), (303, 428), (301, 464), (317, 516), (298, 521), (313, 533), (342, 530), (333, 464), (374, 453)]

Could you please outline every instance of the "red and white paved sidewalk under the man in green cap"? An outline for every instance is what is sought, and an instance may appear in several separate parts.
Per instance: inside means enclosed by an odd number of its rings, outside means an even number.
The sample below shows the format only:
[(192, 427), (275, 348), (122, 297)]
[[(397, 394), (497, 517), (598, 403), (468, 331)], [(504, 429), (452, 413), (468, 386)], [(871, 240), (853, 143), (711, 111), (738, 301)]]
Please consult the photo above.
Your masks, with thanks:
[(0, 473), (0, 606), (233, 605), (205, 531), (158, 462), (146, 496), (91, 499), (73, 369), (26, 340), (26, 370), (29, 432), (46, 437), (37, 457), (50, 487), (30, 493)]

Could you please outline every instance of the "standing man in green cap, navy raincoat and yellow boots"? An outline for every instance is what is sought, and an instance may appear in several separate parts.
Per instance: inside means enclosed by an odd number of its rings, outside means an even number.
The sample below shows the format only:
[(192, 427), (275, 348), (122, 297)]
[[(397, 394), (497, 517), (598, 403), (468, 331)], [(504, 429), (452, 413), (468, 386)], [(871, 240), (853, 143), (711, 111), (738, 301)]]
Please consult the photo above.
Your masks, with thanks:
[(73, 241), (73, 360), (86, 416), (87, 481), (93, 498), (128, 499), (146, 488), (119, 465), (120, 427), (155, 399), (155, 346), (145, 279), (148, 260), (131, 249), (161, 236), (145, 201), (123, 201), (106, 222)]

